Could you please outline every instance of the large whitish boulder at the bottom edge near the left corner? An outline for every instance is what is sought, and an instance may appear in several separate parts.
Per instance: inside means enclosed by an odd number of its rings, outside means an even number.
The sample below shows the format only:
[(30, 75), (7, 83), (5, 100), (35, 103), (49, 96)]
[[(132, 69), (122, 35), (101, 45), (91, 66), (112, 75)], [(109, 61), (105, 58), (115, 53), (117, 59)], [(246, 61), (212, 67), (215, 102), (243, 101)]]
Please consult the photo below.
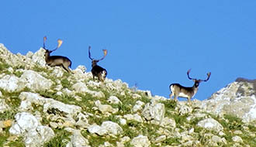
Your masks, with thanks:
[(51, 128), (40, 125), (40, 121), (27, 112), (18, 113), (15, 118), (16, 122), (9, 132), (13, 135), (24, 135), (26, 147), (41, 146), (54, 137), (54, 131)]

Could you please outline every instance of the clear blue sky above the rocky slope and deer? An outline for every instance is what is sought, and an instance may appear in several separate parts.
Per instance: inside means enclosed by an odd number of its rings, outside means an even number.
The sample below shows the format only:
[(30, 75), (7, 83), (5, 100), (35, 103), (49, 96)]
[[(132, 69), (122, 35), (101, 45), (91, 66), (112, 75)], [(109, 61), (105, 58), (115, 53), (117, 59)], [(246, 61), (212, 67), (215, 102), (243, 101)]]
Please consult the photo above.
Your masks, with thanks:
[[(168, 97), (169, 84), (209, 81), (203, 100), (237, 77), (256, 78), (256, 1), (2, 1), (0, 43), (12, 53), (35, 53), (47, 36), (52, 55), (67, 56), (72, 69), (91, 70), (92, 56), (109, 78)], [(182, 100), (181, 98), (179, 100)]]

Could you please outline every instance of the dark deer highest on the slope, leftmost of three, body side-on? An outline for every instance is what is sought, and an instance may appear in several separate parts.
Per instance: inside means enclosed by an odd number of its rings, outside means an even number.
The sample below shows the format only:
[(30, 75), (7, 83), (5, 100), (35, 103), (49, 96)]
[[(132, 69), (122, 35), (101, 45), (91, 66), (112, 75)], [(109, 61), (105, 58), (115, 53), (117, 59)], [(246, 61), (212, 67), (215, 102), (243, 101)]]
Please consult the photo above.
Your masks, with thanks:
[(57, 40), (57, 47), (55, 50), (47, 50), (45, 47), (45, 42), (47, 40), (47, 36), (43, 37), (43, 49), (45, 50), (45, 61), (48, 66), (50, 67), (55, 67), (55, 66), (60, 66), (63, 67), (64, 70), (66, 70), (68, 73), (71, 73), (71, 70), (69, 67), (71, 67), (71, 60), (69, 60), (66, 56), (50, 56), (50, 53), (54, 52), (58, 48), (60, 48), (62, 44), (62, 40), (58, 39)]

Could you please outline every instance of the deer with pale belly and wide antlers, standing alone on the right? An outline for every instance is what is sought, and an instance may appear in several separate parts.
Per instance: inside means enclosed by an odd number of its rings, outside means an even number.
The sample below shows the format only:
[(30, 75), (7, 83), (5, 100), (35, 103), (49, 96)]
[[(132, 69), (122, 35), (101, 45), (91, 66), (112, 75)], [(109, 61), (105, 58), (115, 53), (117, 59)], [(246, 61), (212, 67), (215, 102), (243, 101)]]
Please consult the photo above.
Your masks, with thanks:
[(209, 80), (209, 77), (211, 76), (211, 72), (207, 73), (207, 78), (206, 80), (200, 80), (200, 79), (195, 79), (195, 78), (191, 78), (189, 77), (189, 73), (190, 73), (191, 69), (189, 69), (187, 71), (187, 75), (189, 80), (193, 80), (194, 81), (194, 85), (192, 87), (184, 87), (181, 84), (170, 84), (169, 88), (171, 91), (170, 99), (172, 96), (174, 96), (174, 100), (177, 101), (177, 97), (185, 97), (188, 99), (189, 103), (191, 103), (191, 98), (195, 96), (195, 94), (197, 93), (198, 89), (199, 89), (199, 84), (204, 81), (206, 82), (207, 80)]

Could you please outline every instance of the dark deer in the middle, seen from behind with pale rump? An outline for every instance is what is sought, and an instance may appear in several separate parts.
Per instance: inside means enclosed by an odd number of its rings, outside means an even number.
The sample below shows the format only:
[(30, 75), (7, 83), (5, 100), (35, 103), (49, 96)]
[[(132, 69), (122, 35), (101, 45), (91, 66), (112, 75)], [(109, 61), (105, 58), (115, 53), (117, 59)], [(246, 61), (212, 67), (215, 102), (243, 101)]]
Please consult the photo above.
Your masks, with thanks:
[(89, 55), (89, 59), (92, 60), (92, 70), (91, 71), (92, 71), (93, 80), (95, 80), (95, 77), (98, 77), (98, 80), (104, 82), (104, 80), (106, 79), (106, 76), (107, 76), (107, 71), (106, 71), (106, 69), (97, 65), (97, 63), (106, 57), (107, 50), (103, 50), (104, 56), (99, 60), (95, 60), (92, 58), (90, 50), (91, 50), (91, 46), (88, 47), (88, 55)]

